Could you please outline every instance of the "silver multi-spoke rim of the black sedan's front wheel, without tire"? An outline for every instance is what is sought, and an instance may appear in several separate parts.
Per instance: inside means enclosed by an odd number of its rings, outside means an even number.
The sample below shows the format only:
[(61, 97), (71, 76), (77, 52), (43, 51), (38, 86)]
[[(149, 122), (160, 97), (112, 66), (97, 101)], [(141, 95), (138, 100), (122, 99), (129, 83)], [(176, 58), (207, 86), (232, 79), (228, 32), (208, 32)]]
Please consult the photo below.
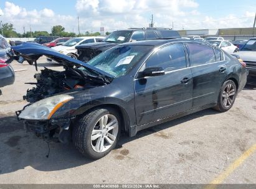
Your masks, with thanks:
[(92, 129), (92, 149), (95, 152), (105, 152), (115, 142), (117, 134), (118, 120), (112, 114), (105, 114)]

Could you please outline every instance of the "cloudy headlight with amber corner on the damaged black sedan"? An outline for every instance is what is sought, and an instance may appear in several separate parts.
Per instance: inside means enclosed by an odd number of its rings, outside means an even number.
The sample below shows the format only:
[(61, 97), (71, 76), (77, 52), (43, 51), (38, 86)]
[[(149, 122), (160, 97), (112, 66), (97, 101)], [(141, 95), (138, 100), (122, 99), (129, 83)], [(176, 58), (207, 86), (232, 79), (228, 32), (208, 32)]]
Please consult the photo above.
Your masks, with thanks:
[(60, 94), (57, 96), (52, 96), (50, 98), (45, 98), (37, 101), (19, 114), (20, 119), (37, 119), (46, 120), (50, 119), (52, 115), (65, 103), (73, 99), (73, 96), (67, 94)]

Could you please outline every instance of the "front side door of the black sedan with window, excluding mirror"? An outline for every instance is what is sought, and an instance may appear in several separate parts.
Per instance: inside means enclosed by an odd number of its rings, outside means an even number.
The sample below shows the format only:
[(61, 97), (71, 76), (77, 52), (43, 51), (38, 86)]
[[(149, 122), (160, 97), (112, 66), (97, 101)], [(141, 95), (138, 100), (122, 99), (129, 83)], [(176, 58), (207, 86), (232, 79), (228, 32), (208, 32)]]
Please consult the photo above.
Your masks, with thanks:
[(135, 79), (135, 111), (138, 125), (167, 118), (192, 107), (192, 74), (183, 43), (154, 52), (141, 67), (162, 67), (165, 74)]

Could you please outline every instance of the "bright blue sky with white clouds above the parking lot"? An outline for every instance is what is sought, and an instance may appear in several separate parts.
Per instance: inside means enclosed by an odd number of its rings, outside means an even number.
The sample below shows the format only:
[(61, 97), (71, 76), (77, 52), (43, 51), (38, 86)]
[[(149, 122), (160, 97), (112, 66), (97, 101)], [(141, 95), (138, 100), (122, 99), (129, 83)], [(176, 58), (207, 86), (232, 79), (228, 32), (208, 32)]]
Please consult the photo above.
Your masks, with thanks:
[[(212, 2), (212, 3), (211, 3)], [(97, 32), (128, 27), (148, 27), (153, 14), (156, 27), (174, 29), (218, 29), (252, 27), (255, 0), (13, 0), (0, 1), (0, 20), (14, 24), (17, 32), (50, 31), (63, 25), (69, 32)]]

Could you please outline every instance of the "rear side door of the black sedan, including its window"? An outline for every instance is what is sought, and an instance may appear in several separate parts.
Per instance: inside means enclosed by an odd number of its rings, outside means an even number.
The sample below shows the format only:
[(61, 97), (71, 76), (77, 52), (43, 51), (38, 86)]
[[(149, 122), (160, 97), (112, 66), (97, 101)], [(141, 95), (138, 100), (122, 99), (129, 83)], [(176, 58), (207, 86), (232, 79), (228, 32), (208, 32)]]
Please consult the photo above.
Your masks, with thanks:
[(223, 53), (206, 44), (187, 43), (186, 47), (193, 76), (192, 108), (216, 103), (227, 76)]

